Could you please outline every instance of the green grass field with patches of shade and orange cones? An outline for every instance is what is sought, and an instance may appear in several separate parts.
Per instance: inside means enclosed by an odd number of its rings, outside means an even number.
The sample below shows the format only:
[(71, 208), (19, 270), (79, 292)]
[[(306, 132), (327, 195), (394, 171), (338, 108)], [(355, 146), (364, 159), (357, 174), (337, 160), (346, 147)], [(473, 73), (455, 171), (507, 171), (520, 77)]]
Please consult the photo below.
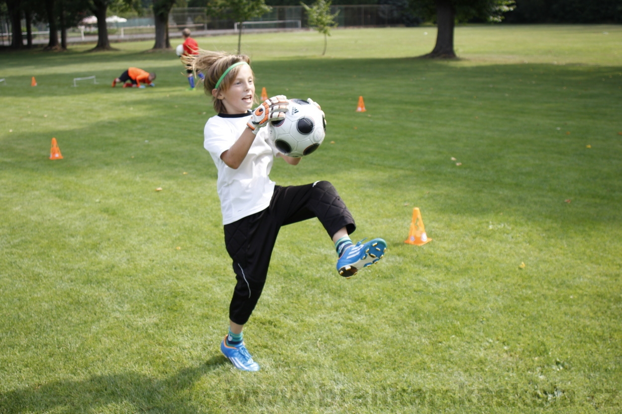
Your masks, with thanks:
[[(213, 110), (174, 53), (0, 52), (0, 413), (620, 412), (622, 27), (458, 27), (460, 60), (412, 58), (434, 39), (335, 30), (320, 57), (315, 32), (243, 36), (258, 91), (327, 114), (272, 179), (330, 180), (353, 239), (389, 244), (344, 280), (317, 221), (282, 229), (245, 329), (257, 373), (218, 348)], [(156, 88), (111, 88), (129, 66)]]

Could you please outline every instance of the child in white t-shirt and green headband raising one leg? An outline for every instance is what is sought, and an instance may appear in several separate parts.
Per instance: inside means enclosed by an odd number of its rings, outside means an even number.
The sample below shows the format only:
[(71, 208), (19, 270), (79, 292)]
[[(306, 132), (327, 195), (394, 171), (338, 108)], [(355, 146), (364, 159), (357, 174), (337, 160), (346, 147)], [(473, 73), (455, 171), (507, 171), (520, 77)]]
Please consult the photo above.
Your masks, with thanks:
[(279, 186), (270, 180), (275, 157), (291, 165), (300, 158), (281, 154), (263, 128), (284, 119), (289, 110), (285, 96), (267, 99), (251, 112), (255, 85), (248, 56), (202, 50), (185, 62), (205, 74), (204, 88), (218, 113), (205, 124), (203, 146), (218, 168), (225, 247), (237, 279), (229, 332), (220, 349), (236, 368), (256, 371), (259, 364), (246, 349), (242, 331), (261, 296), (281, 226), (317, 217), (335, 244), (337, 271), (346, 278), (382, 259), (386, 242), (352, 243), (355, 221), (331, 183)]

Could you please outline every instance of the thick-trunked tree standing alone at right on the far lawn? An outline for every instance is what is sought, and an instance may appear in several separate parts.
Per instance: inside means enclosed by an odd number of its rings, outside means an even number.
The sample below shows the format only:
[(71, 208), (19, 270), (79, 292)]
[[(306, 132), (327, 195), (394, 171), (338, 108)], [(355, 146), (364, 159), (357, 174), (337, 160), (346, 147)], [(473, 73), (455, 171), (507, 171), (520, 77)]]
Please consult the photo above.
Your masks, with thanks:
[(425, 58), (455, 58), (453, 29), (456, 21), (481, 19), (500, 22), (503, 13), (514, 9), (514, 0), (412, 0), (415, 14), (436, 20), (436, 44)]

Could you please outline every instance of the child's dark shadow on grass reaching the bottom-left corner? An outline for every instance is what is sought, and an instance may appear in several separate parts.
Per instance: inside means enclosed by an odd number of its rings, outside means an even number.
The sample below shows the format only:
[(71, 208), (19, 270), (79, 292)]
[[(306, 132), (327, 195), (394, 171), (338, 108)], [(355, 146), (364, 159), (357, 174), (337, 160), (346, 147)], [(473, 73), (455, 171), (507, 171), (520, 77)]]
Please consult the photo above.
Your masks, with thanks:
[(203, 375), (227, 364), (213, 356), (164, 379), (125, 372), (85, 380), (58, 380), (0, 393), (0, 413), (100, 412), (107, 405), (131, 405), (140, 412), (196, 413), (185, 392)]

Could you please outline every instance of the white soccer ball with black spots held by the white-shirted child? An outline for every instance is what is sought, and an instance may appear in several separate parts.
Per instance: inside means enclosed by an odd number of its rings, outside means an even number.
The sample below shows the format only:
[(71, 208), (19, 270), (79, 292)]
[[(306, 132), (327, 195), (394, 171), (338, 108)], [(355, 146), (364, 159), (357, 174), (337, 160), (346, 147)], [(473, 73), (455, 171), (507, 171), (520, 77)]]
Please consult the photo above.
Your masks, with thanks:
[(289, 99), (285, 119), (269, 122), (269, 139), (279, 151), (299, 158), (317, 150), (326, 136), (326, 121), (322, 111), (302, 99)]

